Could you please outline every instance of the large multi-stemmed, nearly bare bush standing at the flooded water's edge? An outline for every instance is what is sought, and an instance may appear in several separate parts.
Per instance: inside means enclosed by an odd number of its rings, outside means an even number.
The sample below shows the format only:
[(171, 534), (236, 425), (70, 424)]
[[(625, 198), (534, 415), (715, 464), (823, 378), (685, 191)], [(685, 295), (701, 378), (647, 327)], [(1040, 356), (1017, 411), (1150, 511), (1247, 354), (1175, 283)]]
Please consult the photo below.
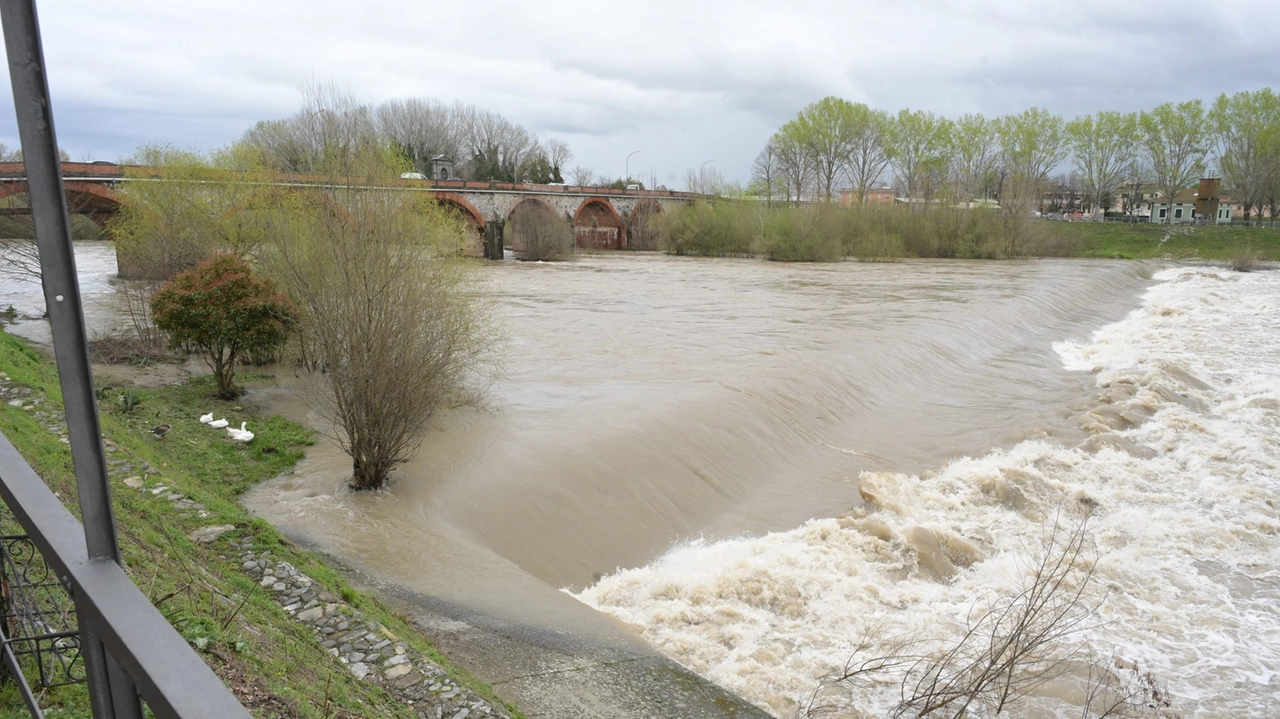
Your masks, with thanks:
[(301, 307), (317, 411), (351, 455), (355, 489), (385, 485), (440, 407), (476, 399), (494, 340), (456, 258), (468, 230), (424, 202), (406, 212), (394, 193), (342, 188), (323, 203), (282, 197), (265, 253)]

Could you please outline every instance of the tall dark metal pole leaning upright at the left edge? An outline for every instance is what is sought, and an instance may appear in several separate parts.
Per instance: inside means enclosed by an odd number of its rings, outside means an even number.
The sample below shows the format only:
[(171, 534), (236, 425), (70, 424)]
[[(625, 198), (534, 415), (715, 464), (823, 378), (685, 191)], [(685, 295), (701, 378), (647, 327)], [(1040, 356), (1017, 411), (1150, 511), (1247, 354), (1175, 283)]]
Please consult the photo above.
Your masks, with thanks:
[[(67, 412), (67, 434), (72, 445), (81, 518), (84, 522), (84, 542), (90, 559), (119, 564), (120, 548), (115, 537), (111, 491), (106, 484), (106, 454), (93, 398), (84, 312), (76, 276), (70, 220), (63, 192), (58, 136), (54, 133), (35, 1), (0, 0), (0, 22), (4, 23), (9, 82), (18, 115), (22, 156), (27, 165), (45, 306), (52, 326), (58, 379), (63, 389), (63, 409)], [(93, 715), (141, 719), (142, 704), (133, 682), (104, 651), (92, 627), (81, 626), (81, 642)]]

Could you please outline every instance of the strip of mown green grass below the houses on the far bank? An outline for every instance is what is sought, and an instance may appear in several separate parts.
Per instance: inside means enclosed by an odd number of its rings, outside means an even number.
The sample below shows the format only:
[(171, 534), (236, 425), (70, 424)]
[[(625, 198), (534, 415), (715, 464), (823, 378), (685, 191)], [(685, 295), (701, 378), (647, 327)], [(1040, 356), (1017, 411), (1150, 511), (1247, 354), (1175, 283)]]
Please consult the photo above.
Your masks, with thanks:
[(1075, 243), (1076, 257), (1125, 260), (1224, 260), (1252, 252), (1280, 261), (1280, 229), (1244, 226), (1147, 225), (1125, 223), (1046, 223), (1048, 232)]

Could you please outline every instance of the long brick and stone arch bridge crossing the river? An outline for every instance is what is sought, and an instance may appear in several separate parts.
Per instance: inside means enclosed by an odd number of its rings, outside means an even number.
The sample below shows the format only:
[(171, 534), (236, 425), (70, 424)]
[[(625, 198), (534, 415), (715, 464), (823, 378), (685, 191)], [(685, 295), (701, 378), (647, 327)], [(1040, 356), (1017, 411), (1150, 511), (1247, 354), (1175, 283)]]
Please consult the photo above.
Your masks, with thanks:
[[(147, 182), (146, 168), (125, 168), (114, 162), (63, 162), (63, 182), (68, 209), (87, 215), (102, 225), (127, 202), (119, 188), (129, 182)], [(321, 187), (319, 178), (280, 175), (273, 184), (289, 187)], [(457, 210), (476, 229), (476, 255), (500, 260), (504, 226), (516, 207), (536, 202), (550, 207), (572, 223), (579, 247), (625, 249), (645, 220), (672, 207), (707, 198), (690, 192), (614, 189), (567, 184), (524, 184), (500, 182), (429, 180), (388, 178), (370, 189), (392, 189), (406, 193), (406, 205), (415, 194), (428, 194)], [(28, 214), (4, 198), (27, 192), (26, 168), (22, 162), (0, 162), (0, 215)]]

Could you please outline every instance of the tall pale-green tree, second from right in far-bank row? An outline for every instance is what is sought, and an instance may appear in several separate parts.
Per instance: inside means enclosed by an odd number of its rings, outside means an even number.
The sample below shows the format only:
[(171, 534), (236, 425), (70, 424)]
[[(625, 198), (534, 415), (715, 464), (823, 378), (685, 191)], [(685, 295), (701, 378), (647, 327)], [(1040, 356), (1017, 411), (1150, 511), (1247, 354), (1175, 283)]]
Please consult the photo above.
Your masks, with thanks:
[[(1165, 102), (1143, 113), (1138, 123), (1147, 164), (1165, 201), (1171, 202), (1204, 174), (1210, 143), (1204, 105), (1199, 100)], [(1165, 221), (1174, 221), (1172, 211)]]

